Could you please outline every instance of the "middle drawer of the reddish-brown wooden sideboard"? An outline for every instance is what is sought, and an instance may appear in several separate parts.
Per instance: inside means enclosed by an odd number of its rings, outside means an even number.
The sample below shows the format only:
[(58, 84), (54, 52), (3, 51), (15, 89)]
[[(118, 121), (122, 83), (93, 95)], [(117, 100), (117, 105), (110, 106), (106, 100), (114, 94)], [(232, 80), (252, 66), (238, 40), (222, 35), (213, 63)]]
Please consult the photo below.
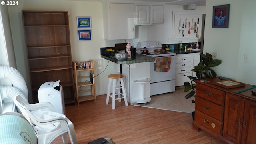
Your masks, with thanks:
[(195, 109), (223, 122), (224, 107), (196, 96)]

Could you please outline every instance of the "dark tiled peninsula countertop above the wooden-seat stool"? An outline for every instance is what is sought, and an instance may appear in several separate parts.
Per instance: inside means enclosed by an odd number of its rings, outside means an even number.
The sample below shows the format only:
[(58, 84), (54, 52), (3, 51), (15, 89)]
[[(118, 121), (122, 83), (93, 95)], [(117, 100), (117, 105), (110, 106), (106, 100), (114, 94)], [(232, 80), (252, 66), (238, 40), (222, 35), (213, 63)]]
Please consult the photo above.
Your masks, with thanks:
[(117, 64), (135, 64), (140, 62), (154, 62), (156, 58), (151, 56), (146, 56), (142, 54), (137, 54), (136, 59), (132, 60), (131, 58), (128, 58), (126, 60), (116, 60), (115, 56), (103, 56), (100, 55), (100, 57), (105, 58), (106, 60), (110, 60), (112, 62), (115, 62)]

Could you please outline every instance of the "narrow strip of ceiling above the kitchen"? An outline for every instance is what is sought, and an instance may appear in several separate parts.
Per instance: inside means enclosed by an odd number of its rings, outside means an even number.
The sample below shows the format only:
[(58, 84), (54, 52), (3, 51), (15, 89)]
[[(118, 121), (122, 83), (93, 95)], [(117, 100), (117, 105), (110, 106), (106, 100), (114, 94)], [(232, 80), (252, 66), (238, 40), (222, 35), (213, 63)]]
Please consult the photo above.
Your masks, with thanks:
[(165, 2), (165, 4), (181, 5), (196, 4), (197, 6), (206, 6), (206, 0), (135, 0), (147, 2)]

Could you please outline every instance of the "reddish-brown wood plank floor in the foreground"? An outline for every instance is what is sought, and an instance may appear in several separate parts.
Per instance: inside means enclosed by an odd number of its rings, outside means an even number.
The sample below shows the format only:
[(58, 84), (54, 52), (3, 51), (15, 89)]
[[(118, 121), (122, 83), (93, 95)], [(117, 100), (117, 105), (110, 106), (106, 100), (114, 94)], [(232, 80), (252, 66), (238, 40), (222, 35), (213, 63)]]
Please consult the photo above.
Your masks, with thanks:
[[(66, 106), (66, 116), (73, 122), (78, 144), (104, 137), (116, 144), (224, 144), (202, 130), (192, 129), (192, 115), (140, 106), (126, 107), (124, 101), (106, 103), (106, 95), (97, 102)], [(69, 139), (68, 139), (69, 140)], [(52, 144), (62, 143), (59, 136)], [(70, 144), (70, 140), (68, 142)]]

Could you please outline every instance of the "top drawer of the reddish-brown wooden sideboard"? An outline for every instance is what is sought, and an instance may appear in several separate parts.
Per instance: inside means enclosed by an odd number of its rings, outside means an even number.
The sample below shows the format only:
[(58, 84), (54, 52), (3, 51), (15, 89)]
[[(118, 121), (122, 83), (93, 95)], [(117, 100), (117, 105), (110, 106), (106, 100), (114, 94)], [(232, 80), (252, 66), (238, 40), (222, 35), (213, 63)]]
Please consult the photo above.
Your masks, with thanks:
[(203, 84), (196, 84), (196, 96), (218, 104), (220, 106), (224, 106), (225, 103), (225, 92), (221, 90), (217, 90), (215, 88), (210, 88)]

